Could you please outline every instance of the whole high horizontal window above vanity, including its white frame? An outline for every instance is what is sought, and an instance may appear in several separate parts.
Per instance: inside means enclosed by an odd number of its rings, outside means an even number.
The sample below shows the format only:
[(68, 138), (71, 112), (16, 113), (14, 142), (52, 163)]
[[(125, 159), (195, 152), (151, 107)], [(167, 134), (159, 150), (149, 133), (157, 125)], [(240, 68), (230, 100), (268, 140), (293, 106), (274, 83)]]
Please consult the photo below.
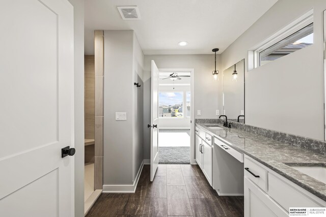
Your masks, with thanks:
[(310, 10), (249, 51), (248, 70), (312, 45), (313, 35), (313, 10)]

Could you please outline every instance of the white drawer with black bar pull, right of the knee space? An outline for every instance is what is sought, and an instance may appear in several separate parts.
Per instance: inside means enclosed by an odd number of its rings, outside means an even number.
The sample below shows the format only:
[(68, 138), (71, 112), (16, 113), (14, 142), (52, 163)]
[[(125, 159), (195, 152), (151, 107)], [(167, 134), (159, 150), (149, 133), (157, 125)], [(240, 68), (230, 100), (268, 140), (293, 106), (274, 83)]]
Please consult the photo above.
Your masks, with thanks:
[(244, 176), (257, 184), (264, 192), (268, 191), (268, 171), (248, 158), (244, 158)]

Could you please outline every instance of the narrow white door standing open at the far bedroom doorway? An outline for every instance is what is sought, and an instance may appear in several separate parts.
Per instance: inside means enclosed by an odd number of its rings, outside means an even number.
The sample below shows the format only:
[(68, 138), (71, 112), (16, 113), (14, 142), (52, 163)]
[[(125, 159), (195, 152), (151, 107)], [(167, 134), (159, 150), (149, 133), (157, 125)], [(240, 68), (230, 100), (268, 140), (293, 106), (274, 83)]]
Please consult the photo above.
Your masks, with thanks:
[(151, 181), (158, 167), (158, 77), (159, 71), (152, 60), (152, 97), (151, 97)]

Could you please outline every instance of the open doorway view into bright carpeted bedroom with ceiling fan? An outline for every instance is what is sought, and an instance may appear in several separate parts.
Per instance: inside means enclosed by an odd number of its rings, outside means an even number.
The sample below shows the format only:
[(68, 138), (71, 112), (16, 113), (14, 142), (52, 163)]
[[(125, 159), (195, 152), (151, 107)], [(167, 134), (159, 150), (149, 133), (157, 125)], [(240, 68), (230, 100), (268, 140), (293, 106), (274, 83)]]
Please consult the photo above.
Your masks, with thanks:
[(192, 163), (192, 94), (191, 71), (160, 69), (158, 79), (160, 164)]

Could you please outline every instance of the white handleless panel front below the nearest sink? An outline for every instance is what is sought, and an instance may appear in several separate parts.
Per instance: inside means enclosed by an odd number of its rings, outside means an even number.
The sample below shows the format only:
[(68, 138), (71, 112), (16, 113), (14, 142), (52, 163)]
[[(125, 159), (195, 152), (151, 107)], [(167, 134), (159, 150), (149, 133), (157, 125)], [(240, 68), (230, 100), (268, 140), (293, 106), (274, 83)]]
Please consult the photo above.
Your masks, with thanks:
[(285, 210), (289, 210), (289, 207), (324, 207), (271, 173), (268, 174), (268, 195)]

